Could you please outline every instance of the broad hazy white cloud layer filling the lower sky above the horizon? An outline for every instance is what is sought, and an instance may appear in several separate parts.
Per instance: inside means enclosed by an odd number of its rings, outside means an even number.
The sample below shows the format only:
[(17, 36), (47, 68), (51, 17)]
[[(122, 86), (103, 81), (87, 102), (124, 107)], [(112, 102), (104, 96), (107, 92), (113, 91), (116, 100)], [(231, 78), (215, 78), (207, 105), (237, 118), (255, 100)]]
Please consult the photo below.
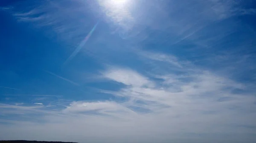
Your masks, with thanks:
[[(9, 126), (1, 125), (4, 129), (1, 135), (8, 138), (17, 134), (13, 139), (45, 140), (41, 137), (44, 134), (47, 140), (80, 142), (100, 142), (102, 139), (107, 142), (168, 142), (177, 141), (177, 138), (182, 138), (180, 142), (189, 139), (204, 142), (215, 137), (225, 140), (223, 135), (236, 136), (230, 141), (253, 139), (256, 98), (253, 93), (232, 93), (233, 90), (246, 90), (245, 84), (205, 70), (184, 71), (181, 75), (155, 74), (148, 77), (130, 69), (107, 69), (104, 77), (126, 86), (118, 91), (105, 92), (124, 97), (125, 101), (73, 101), (63, 110), (54, 112), (46, 106), (1, 104), (2, 111), (18, 109), (25, 110), (25, 115), (31, 112), (44, 115), (41, 116), (44, 123), (16, 121)], [(18, 134), (20, 129), (28, 138)], [(210, 138), (203, 139), (200, 135)], [(97, 140), (98, 137), (101, 140)]]

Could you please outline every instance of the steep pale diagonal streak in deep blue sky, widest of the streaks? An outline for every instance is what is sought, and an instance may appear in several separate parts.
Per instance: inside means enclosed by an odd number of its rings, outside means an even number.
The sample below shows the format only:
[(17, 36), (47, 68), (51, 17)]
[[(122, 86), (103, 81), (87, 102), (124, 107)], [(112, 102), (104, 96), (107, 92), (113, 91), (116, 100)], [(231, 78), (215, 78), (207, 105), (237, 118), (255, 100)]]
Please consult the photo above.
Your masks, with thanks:
[(93, 34), (93, 31), (95, 31), (97, 25), (99, 24), (99, 22), (96, 23), (96, 25), (93, 26), (92, 30), (89, 32), (89, 34), (87, 34), (87, 36), (84, 38), (84, 40), (79, 44), (79, 46), (76, 48), (76, 50), (67, 58), (67, 60), (64, 62), (64, 64), (66, 64), (67, 62), (71, 61), (76, 54), (81, 50), (81, 48), (84, 46), (84, 44), (88, 41), (88, 39), (90, 38), (90, 36)]

